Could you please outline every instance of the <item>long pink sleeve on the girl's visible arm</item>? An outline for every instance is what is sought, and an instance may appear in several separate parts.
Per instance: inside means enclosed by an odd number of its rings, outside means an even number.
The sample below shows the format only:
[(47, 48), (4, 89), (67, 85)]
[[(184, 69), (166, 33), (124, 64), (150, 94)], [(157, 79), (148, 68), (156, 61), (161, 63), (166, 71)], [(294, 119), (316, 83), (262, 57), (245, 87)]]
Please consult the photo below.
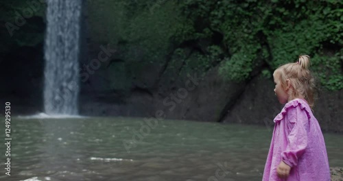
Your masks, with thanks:
[(290, 107), (287, 110), (287, 147), (281, 153), (283, 162), (290, 167), (298, 165), (298, 159), (304, 154), (307, 147), (307, 125), (309, 118), (300, 106)]

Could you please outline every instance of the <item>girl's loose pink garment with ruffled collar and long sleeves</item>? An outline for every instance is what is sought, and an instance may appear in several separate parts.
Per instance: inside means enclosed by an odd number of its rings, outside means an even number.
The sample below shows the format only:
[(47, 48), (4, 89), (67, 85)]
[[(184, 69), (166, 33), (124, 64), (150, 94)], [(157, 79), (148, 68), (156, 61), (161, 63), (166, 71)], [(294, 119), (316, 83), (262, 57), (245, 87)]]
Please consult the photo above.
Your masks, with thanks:
[(276, 173), (281, 160), (292, 167), (287, 181), (331, 180), (324, 137), (307, 102), (289, 101), (274, 123), (263, 181), (282, 180)]

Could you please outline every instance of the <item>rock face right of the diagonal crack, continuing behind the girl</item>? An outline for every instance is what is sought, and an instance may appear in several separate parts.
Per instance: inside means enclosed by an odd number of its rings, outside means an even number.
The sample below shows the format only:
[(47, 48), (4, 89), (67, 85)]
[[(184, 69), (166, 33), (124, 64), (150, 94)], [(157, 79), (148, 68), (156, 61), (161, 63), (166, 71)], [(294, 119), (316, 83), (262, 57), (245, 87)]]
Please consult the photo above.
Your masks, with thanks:
[[(324, 131), (343, 132), (343, 90), (322, 90), (316, 100), (314, 116)], [(224, 122), (265, 124), (274, 126), (273, 119), (283, 105), (274, 95), (272, 80), (257, 76), (244, 88), (244, 93), (237, 98), (235, 106), (228, 110)]]

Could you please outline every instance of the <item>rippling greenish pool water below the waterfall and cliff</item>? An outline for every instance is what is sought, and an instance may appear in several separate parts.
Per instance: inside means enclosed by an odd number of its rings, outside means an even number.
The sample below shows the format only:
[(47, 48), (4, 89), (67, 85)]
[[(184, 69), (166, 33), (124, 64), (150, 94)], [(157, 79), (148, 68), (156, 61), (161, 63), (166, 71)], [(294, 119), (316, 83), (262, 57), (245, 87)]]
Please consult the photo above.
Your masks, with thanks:
[[(271, 136), (263, 125), (12, 117), (0, 180), (261, 180)], [(330, 167), (342, 167), (343, 135), (324, 138)]]

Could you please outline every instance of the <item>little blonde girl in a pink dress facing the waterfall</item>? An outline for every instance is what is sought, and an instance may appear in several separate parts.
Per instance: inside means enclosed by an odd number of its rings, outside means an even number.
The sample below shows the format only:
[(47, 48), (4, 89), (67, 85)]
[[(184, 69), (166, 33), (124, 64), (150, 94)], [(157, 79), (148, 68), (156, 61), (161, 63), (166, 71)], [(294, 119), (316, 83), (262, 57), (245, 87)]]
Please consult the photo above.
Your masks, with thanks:
[(331, 180), (327, 149), (314, 106), (314, 77), (309, 56), (274, 71), (275, 95), (285, 107), (274, 119), (274, 131), (263, 181)]

